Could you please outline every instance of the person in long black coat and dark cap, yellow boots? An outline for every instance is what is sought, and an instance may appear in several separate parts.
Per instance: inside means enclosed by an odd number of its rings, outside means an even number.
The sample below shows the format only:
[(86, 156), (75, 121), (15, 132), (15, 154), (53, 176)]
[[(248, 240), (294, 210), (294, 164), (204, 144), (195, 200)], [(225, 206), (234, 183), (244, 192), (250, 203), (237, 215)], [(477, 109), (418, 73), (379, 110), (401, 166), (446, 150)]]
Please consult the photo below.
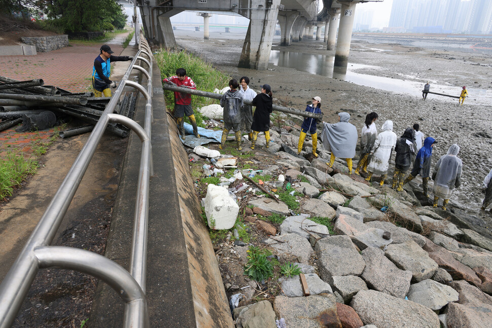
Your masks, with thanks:
[(253, 99), (253, 105), (256, 106), (253, 115), (253, 140), (251, 140), (251, 149), (255, 149), (256, 139), (260, 132), (265, 133), (266, 148), (270, 147), (270, 114), (273, 112), (273, 93), (268, 84), (261, 86), (261, 93)]

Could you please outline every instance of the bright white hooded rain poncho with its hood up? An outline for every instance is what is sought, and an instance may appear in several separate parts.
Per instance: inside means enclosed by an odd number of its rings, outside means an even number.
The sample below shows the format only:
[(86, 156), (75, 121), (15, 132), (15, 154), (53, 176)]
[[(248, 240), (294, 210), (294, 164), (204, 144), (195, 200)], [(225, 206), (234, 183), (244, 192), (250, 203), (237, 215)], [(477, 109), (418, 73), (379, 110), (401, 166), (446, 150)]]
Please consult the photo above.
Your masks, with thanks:
[(371, 150), (371, 161), (367, 170), (374, 174), (388, 173), (388, 162), (391, 152), (396, 147), (396, 133), (393, 132), (393, 121), (386, 121), (382, 125), (382, 132), (377, 135), (374, 147)]

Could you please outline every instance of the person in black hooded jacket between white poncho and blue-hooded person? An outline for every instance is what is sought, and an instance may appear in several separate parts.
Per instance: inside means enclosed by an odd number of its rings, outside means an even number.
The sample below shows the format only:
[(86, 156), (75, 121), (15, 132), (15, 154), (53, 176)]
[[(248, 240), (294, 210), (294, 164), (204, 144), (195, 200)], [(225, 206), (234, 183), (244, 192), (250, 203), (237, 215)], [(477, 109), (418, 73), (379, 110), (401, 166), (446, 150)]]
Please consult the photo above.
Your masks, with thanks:
[(405, 173), (412, 165), (412, 162), (417, 153), (417, 145), (415, 144), (415, 130), (411, 127), (407, 127), (403, 135), (396, 142), (396, 157), (395, 157), (395, 171), (393, 172), (393, 185), (391, 188), (396, 191), (403, 190), (403, 177)]

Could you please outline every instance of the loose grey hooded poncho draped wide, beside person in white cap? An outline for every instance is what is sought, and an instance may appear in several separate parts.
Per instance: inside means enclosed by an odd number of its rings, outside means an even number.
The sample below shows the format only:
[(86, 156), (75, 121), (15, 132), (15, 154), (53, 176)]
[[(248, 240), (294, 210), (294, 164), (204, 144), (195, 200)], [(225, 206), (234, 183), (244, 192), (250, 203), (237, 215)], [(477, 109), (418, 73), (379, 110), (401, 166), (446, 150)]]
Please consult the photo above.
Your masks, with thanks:
[[(340, 122), (329, 124), (323, 122), (323, 147), (329, 145), (331, 152), (338, 158), (356, 156), (357, 128), (348, 123), (350, 114), (339, 113)], [(327, 150), (329, 150), (327, 148)]]

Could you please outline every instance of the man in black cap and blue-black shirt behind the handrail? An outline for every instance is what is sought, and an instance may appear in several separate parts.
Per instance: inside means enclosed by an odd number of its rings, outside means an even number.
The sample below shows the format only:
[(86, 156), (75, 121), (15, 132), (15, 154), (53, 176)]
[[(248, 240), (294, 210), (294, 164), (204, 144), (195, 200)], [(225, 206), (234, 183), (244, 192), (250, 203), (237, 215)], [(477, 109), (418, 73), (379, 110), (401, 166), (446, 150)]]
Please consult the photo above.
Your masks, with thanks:
[(99, 56), (94, 59), (92, 67), (92, 87), (96, 97), (111, 97), (111, 89), (116, 88), (116, 82), (110, 80), (111, 62), (133, 60), (133, 56), (113, 56), (114, 51), (108, 45), (102, 45)]

